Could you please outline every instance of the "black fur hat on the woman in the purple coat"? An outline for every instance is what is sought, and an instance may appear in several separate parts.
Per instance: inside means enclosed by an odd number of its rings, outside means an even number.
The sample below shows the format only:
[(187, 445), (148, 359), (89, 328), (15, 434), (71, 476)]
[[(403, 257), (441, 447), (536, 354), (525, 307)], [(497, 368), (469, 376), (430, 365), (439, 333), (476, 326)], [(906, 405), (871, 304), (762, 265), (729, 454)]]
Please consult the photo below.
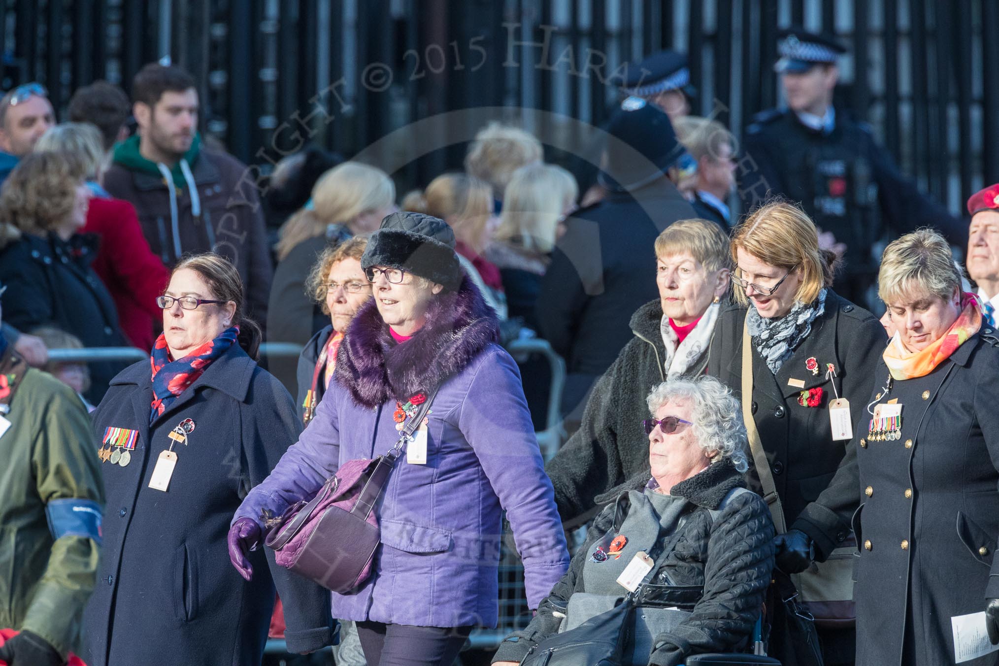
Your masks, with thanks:
[(371, 235), (361, 268), (402, 269), (453, 292), (465, 272), (455, 252), (455, 232), (444, 220), (423, 213), (393, 213)]

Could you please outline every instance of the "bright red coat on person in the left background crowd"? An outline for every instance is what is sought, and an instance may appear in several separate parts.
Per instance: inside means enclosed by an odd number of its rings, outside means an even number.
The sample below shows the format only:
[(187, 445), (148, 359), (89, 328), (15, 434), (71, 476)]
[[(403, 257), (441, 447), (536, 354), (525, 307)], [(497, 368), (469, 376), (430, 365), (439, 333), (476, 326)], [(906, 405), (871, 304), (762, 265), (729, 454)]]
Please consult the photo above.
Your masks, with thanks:
[(115, 301), (122, 332), (136, 346), (152, 349), (153, 324), (163, 317), (156, 297), (170, 274), (149, 249), (135, 207), (122, 199), (94, 197), (83, 232), (101, 239), (94, 271)]

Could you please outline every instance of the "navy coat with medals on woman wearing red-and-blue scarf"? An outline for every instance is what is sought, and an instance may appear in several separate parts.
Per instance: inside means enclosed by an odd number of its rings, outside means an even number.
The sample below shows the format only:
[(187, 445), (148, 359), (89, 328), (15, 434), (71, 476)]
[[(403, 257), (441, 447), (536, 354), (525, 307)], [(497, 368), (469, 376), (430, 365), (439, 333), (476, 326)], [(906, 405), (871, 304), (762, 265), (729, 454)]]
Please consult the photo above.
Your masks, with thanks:
[[(246, 582), (226, 536), (250, 488), (264, 480), (301, 423), (288, 391), (237, 344), (149, 422), (149, 361), (111, 382), (94, 412), (96, 445), (109, 426), (138, 430), (130, 463), (102, 463), (107, 504), (97, 587), (84, 619), (88, 666), (259, 666), (274, 605), (285, 604), (293, 651), (333, 640), (330, 593), (278, 567), (264, 546)], [(168, 433), (190, 418), (166, 492), (149, 487)], [(273, 579), (272, 579), (273, 575)]]

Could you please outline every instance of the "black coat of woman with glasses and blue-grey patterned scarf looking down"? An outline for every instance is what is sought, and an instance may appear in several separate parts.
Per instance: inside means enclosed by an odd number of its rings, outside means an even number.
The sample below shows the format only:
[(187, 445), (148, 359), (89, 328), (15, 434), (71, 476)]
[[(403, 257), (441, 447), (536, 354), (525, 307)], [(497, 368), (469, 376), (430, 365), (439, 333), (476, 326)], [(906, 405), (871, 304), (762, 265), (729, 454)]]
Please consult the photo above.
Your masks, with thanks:
[[(751, 306), (750, 306), (751, 307)], [(730, 306), (718, 318), (707, 360), (707, 373), (718, 377), (737, 395), (742, 391), (742, 326), (746, 310)], [(884, 350), (884, 329), (868, 313), (826, 292), (825, 310), (812, 323), (811, 333), (774, 375), (755, 347), (752, 349), (752, 413), (766, 452), (784, 519), (791, 525), (805, 506), (818, 498), (836, 473), (853, 440), (833, 441), (829, 423), (829, 400), (835, 398), (833, 384), (825, 378), (826, 363), (835, 366), (835, 390), (850, 401), (855, 422), (865, 412), (875, 377), (871, 368)], [(818, 373), (805, 366), (808, 358), (818, 363)], [(790, 380), (790, 382), (789, 382)], [(803, 382), (803, 386), (792, 383)], [(817, 407), (798, 404), (802, 390), (820, 386)], [(856, 434), (856, 430), (854, 430)], [(749, 455), (750, 461), (752, 456)], [(749, 488), (761, 492), (759, 478), (750, 469)], [(847, 489), (841, 490), (847, 493)], [(849, 492), (855, 499), (854, 492)], [(850, 533), (849, 520), (840, 520), (828, 534), (811, 534), (819, 557), (824, 559)]]

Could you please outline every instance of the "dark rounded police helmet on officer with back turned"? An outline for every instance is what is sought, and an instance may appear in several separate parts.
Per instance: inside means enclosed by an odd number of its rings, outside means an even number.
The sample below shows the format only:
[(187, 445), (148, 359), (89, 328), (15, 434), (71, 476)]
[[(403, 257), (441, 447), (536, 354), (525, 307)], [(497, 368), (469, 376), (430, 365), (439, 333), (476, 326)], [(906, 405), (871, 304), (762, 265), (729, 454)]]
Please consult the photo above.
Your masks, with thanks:
[(640, 97), (628, 97), (607, 125), (604, 163), (597, 181), (614, 192), (635, 190), (664, 176), (685, 151), (669, 116)]

